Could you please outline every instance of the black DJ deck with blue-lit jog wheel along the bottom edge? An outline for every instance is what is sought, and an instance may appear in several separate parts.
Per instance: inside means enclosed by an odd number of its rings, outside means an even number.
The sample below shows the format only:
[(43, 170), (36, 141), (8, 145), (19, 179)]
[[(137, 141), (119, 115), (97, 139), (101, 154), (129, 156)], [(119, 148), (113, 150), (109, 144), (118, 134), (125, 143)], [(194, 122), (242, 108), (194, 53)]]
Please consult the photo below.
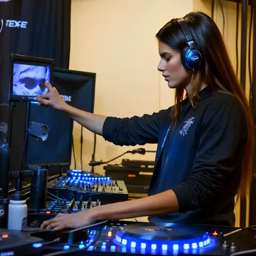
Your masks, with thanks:
[(253, 228), (109, 221), (75, 231), (0, 230), (0, 237), (0, 255), (256, 255)]

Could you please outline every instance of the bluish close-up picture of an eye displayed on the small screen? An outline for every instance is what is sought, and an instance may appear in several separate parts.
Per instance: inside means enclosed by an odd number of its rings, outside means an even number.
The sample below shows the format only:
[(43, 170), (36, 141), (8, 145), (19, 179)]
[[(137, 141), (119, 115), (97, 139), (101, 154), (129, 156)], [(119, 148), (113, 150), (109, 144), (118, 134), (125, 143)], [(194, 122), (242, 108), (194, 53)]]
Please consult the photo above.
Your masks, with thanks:
[(12, 95), (37, 96), (48, 92), (45, 81), (50, 81), (51, 67), (14, 63)]

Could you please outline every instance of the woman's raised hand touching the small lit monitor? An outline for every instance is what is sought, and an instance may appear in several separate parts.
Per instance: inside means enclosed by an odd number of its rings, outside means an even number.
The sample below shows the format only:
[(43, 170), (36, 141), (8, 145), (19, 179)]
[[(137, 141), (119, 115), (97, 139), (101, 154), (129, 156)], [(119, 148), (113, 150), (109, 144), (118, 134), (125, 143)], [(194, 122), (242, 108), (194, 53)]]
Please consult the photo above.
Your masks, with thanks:
[(53, 109), (63, 111), (68, 104), (66, 104), (64, 99), (59, 95), (57, 89), (52, 87), (48, 82), (45, 82), (45, 87), (48, 89), (48, 93), (45, 95), (38, 95), (35, 98), (38, 105), (50, 106)]

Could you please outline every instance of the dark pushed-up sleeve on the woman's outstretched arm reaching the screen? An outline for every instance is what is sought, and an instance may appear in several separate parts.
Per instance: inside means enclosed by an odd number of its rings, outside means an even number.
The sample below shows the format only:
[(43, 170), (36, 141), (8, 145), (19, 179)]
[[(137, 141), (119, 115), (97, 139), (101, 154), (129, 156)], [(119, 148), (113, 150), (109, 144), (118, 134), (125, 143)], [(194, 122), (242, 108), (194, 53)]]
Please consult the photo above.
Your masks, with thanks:
[(157, 143), (160, 127), (167, 118), (170, 119), (170, 113), (171, 107), (142, 117), (107, 117), (103, 125), (103, 138), (120, 146)]

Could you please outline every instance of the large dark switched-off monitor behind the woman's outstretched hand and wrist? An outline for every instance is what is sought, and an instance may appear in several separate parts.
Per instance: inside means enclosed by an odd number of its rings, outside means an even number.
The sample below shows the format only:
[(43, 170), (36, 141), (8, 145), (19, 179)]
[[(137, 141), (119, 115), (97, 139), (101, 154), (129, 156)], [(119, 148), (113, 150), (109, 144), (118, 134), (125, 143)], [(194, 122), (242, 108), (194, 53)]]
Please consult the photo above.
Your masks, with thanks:
[[(96, 74), (55, 68), (54, 85), (69, 105), (93, 113)], [(50, 107), (30, 104), (30, 122), (49, 125), (45, 142), (28, 137), (27, 159), (29, 165), (70, 165), (72, 153), (73, 120), (65, 113)], [(51, 175), (51, 173), (49, 173)]]

